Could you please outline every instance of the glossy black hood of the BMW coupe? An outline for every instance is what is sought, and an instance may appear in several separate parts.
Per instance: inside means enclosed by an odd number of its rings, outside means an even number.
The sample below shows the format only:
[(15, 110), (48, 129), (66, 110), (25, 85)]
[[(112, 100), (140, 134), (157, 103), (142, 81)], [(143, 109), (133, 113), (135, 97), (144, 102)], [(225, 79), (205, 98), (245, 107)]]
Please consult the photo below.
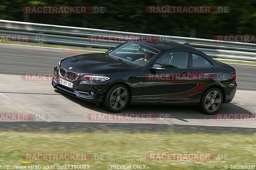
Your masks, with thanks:
[[(61, 60), (65, 64), (88, 74), (106, 74), (125, 70), (139, 70), (140, 67), (109, 58), (102, 53), (82, 54)], [(60, 66), (62, 67), (62, 65)]]

